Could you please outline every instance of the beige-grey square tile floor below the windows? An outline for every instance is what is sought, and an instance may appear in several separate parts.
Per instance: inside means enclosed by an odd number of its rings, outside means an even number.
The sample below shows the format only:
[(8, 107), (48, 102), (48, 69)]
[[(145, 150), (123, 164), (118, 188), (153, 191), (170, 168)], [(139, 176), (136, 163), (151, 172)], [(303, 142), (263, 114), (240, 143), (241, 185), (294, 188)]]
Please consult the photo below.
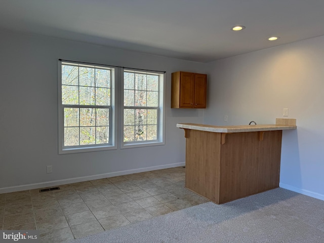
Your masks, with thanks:
[(184, 188), (182, 167), (0, 194), (1, 229), (37, 229), (65, 242), (207, 203)]

